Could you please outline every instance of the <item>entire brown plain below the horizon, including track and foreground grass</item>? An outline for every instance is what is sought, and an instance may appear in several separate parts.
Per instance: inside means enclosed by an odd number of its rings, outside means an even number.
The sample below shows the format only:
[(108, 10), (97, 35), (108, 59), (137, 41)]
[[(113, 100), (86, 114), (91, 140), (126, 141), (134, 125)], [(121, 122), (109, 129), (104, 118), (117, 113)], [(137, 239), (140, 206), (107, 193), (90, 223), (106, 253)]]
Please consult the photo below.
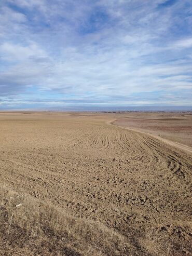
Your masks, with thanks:
[(0, 113), (0, 255), (190, 255), (192, 115)]

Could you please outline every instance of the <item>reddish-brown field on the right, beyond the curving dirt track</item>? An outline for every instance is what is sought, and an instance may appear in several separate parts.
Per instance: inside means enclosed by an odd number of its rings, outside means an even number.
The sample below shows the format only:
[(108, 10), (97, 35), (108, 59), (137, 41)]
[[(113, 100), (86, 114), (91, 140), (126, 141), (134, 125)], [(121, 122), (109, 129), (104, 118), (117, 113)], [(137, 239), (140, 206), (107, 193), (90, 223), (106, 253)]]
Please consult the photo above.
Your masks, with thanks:
[(113, 123), (192, 147), (192, 112), (126, 113)]

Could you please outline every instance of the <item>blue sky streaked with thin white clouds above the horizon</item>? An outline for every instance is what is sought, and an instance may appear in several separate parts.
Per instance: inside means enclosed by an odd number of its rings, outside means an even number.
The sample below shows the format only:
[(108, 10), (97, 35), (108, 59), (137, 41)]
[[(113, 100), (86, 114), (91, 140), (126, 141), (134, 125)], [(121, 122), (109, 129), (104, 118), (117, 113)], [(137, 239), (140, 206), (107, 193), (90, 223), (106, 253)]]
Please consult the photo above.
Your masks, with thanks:
[(0, 109), (192, 105), (191, 0), (1, 0)]

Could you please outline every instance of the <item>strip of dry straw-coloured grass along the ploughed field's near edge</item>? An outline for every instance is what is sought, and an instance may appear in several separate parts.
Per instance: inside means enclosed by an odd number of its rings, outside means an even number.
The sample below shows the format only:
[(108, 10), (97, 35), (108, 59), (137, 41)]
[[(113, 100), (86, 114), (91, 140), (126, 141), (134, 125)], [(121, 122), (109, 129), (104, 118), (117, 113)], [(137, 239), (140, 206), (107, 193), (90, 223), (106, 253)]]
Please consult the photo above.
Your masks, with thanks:
[(123, 236), (5, 186), (0, 205), (0, 255), (189, 255), (189, 246), (176, 245), (157, 228)]

